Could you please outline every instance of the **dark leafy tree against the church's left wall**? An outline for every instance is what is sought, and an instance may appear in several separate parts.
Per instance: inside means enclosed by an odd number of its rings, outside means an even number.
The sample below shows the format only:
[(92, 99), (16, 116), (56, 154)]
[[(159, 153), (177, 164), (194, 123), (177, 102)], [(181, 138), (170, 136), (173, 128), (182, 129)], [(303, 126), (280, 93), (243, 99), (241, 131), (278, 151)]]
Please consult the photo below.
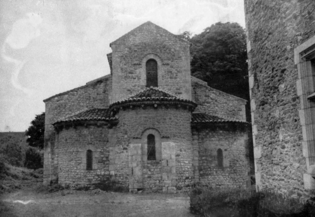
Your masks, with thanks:
[(44, 147), (44, 131), (45, 131), (45, 112), (35, 116), (31, 121), (31, 126), (26, 131), (26, 142), (33, 147)]

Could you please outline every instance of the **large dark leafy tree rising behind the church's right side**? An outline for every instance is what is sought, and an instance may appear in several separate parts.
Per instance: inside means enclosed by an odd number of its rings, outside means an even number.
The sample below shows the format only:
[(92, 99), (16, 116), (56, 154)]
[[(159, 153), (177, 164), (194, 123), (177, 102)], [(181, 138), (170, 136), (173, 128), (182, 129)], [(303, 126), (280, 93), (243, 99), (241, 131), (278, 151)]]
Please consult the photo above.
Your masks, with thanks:
[(216, 23), (190, 39), (191, 73), (215, 89), (249, 99), (246, 35), (237, 23)]

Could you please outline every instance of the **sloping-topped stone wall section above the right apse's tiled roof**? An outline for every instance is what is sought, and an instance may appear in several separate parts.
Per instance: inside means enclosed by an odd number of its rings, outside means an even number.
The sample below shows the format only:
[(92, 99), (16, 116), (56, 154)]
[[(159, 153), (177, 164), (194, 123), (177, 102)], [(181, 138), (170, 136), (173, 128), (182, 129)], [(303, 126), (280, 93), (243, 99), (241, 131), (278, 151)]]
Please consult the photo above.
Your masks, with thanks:
[(229, 119), (246, 121), (246, 100), (213, 89), (207, 83), (191, 76), (192, 100), (198, 104), (194, 113), (206, 113)]

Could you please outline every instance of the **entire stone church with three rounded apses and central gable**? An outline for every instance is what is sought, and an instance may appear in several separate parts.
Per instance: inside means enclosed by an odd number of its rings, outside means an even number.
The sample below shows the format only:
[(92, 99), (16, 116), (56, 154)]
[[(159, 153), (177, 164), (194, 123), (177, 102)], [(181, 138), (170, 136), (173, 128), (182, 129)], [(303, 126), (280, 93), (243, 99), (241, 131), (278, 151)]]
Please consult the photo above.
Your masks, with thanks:
[(44, 183), (246, 187), (246, 101), (192, 77), (190, 44), (151, 22), (110, 47), (111, 74), (44, 100)]

